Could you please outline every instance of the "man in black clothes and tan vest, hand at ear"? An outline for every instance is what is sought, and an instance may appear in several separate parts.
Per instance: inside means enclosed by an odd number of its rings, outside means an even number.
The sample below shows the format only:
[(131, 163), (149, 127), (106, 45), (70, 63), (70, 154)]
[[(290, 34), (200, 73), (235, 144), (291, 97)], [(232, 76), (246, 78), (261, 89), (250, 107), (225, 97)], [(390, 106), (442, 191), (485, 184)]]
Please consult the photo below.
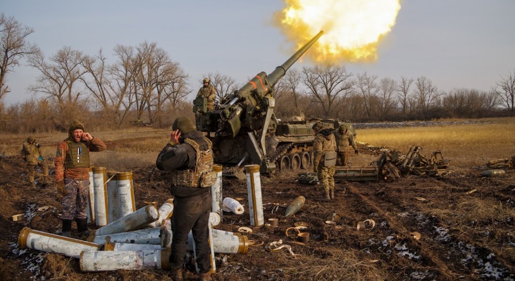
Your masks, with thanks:
[(175, 119), (170, 142), (156, 160), (160, 170), (171, 171), (171, 194), (174, 195), (174, 214), (171, 217), (170, 269), (175, 281), (182, 280), (188, 233), (193, 232), (196, 262), (200, 280), (211, 280), (209, 214), (211, 185), (216, 181), (213, 171), (213, 144), (195, 130), (187, 117)]

